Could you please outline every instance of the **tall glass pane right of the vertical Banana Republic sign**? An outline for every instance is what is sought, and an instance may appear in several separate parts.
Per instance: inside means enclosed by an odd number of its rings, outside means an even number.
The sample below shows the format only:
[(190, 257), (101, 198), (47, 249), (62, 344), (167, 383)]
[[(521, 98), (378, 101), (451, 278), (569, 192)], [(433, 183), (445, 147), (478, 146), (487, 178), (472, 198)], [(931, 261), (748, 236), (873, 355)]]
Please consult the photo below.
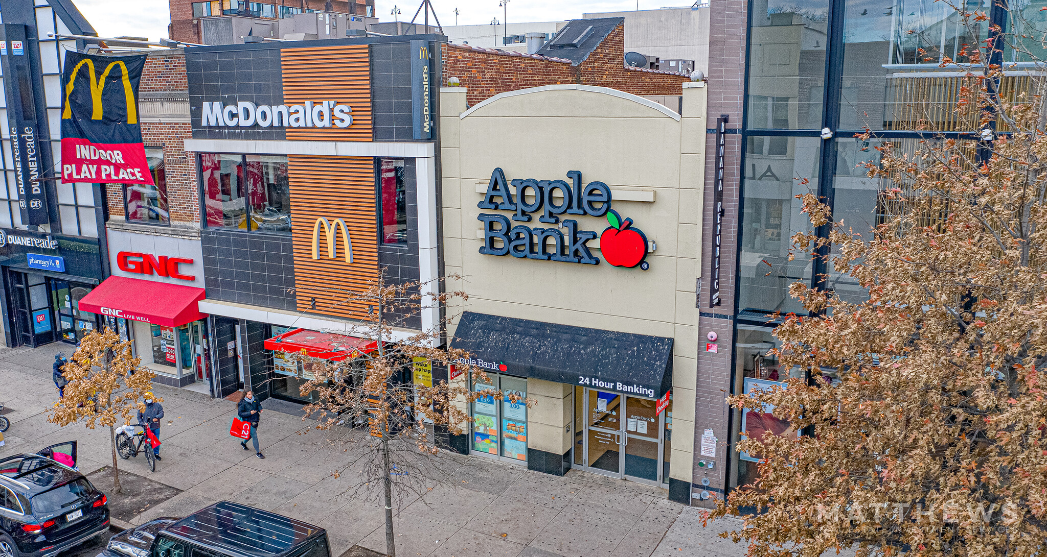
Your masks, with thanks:
[(809, 283), (814, 268), (809, 258), (789, 261), (789, 238), (811, 229), (796, 195), (818, 191), (820, 144), (818, 138), (748, 138), (739, 309), (803, 310), (789, 297), (788, 285)]

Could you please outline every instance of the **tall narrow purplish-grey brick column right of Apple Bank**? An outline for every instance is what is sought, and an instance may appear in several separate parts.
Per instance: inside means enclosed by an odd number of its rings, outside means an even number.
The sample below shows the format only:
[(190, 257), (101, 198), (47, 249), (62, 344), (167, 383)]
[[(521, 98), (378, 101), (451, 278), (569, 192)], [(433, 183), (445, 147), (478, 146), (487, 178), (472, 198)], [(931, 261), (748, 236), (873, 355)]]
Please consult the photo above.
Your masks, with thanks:
[[(733, 133), (727, 136), (723, 171), (723, 222), (720, 257), (720, 298), (722, 302), (715, 308), (709, 307), (709, 284), (712, 276), (713, 238), (715, 215), (713, 213), (713, 183), (715, 178), (716, 136), (706, 134), (706, 196), (705, 196), (705, 245), (701, 248), (701, 295), (698, 328), (701, 336), (715, 331), (719, 338), (718, 352), (698, 351), (698, 377), (694, 403), (694, 446), (700, 446), (701, 433), (710, 428), (715, 434), (719, 446), (716, 447), (716, 466), (713, 471), (694, 466), (695, 489), (701, 488), (701, 478), (709, 478), (706, 488), (716, 498), (723, 497), (723, 491), (738, 462), (737, 452), (728, 450), (729, 422), (731, 412), (725, 403), (730, 392), (734, 362), (731, 347), (734, 345), (734, 291), (735, 261), (738, 247), (738, 207), (741, 170), (741, 112), (744, 102), (745, 68), (745, 0), (722, 0), (713, 2), (709, 16), (709, 36), (716, 38), (709, 42), (709, 108), (708, 127), (713, 129), (721, 114), (730, 116), (727, 124)], [(739, 384), (738, 389), (741, 388)], [(738, 428), (738, 424), (734, 424)], [(695, 461), (707, 459), (700, 451), (694, 451)], [(730, 466), (728, 464), (730, 463)], [(710, 506), (711, 500), (695, 505)]]

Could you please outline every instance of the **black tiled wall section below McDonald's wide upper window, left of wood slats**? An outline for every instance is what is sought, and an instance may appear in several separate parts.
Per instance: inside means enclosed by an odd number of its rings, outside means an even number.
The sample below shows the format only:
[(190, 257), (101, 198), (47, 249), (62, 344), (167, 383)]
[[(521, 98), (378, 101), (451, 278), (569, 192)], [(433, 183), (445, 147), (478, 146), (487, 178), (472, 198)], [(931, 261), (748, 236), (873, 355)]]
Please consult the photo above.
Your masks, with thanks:
[(207, 298), (276, 309), (296, 309), (291, 236), (205, 228)]

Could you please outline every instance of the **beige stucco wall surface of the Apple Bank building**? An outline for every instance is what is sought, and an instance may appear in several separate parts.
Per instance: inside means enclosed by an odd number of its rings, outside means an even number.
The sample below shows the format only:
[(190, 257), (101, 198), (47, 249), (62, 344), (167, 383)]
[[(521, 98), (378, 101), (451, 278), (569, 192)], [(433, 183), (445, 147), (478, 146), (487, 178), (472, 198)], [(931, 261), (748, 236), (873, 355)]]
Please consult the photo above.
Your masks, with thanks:
[[(671, 338), (669, 477), (687, 483), (687, 497), (694, 462), (706, 91), (705, 84), (685, 84), (682, 115), (636, 95), (576, 85), (513, 91), (472, 108), (466, 107), (466, 89), (444, 88), (440, 102), (444, 272), (463, 277), (448, 280), (446, 288), (469, 295), (449, 314)], [(607, 184), (612, 208), (631, 218), (648, 249), (654, 248), (646, 255), (649, 269), (608, 264), (599, 238), (587, 242), (599, 264), (482, 254), (477, 215), (513, 214), (477, 207), (494, 168), (507, 181), (571, 183), (567, 172), (578, 170), (582, 184)], [(511, 223), (557, 227), (539, 223), (539, 215)], [(564, 216), (597, 234), (608, 227), (602, 217)], [(575, 386), (529, 379), (528, 396), (536, 400), (529, 411), (528, 448), (571, 450)]]

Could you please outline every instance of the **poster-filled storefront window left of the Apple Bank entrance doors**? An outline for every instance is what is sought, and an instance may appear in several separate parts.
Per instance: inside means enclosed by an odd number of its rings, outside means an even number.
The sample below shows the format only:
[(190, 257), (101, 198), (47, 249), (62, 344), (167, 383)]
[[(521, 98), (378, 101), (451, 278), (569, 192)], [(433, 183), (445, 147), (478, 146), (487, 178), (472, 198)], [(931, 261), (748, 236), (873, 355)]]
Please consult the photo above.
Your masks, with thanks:
[[(474, 382), (473, 391), (490, 393), (472, 403), (472, 450), (527, 461), (527, 379), (488, 374), (491, 382)], [(502, 390), (503, 400), (494, 394)], [(513, 402), (510, 396), (520, 398)]]

